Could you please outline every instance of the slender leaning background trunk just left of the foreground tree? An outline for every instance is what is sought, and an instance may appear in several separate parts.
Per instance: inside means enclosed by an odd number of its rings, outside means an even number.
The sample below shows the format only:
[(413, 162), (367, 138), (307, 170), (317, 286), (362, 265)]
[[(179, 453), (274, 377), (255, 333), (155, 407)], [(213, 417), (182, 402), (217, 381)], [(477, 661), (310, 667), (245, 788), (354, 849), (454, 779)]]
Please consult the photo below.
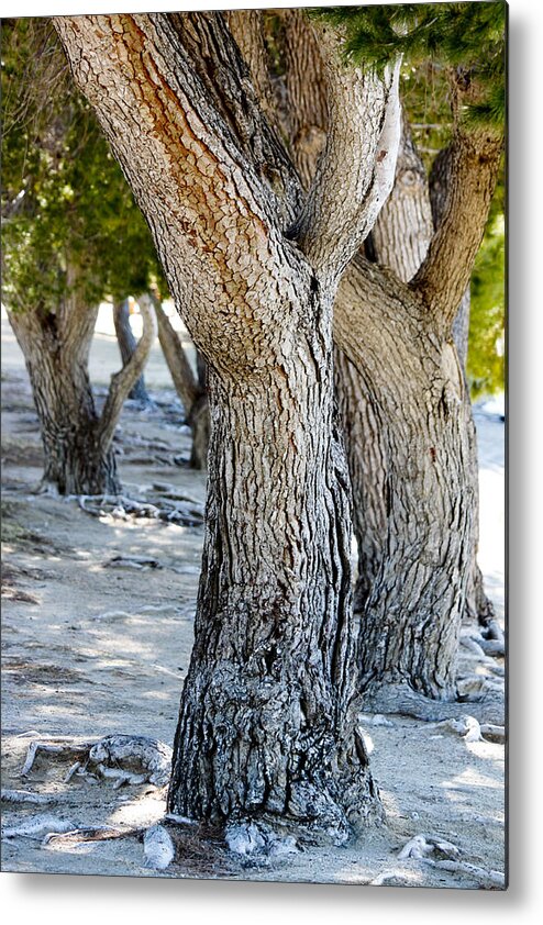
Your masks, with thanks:
[(193, 469), (206, 469), (211, 426), (206, 386), (201, 376), (198, 379), (195, 376), (179, 336), (158, 300), (154, 300), (154, 305), (160, 347), (192, 434), (190, 466)]

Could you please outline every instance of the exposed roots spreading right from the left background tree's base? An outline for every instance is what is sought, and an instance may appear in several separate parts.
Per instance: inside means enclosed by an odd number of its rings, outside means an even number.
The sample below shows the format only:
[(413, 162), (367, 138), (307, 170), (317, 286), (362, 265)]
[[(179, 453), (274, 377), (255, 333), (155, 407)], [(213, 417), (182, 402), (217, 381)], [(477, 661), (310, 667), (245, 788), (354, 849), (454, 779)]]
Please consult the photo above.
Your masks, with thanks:
[(198, 502), (159, 498), (153, 502), (124, 494), (77, 495), (79, 506), (95, 517), (126, 521), (129, 519), (159, 520), (182, 526), (201, 526), (203, 512)]

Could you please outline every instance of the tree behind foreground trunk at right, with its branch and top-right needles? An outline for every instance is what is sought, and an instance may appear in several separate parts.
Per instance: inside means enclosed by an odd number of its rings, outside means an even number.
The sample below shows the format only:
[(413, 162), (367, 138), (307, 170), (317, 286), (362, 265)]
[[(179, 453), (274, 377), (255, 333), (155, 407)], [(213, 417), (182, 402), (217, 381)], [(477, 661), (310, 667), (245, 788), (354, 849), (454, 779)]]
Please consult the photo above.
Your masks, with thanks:
[(379, 67), (402, 51), (417, 64), (430, 52), (447, 66), (450, 180), (428, 253), (407, 286), (399, 277), (391, 283), (357, 257), (334, 314), (337, 339), (346, 337), (358, 354), (386, 457), (387, 526), (362, 613), (361, 683), (376, 709), (431, 715), (424, 698), (455, 695), (475, 543), (470, 413), (452, 333), (501, 163), (505, 9), (424, 4), (341, 8), (323, 15), (344, 24), (345, 55), (353, 60)]

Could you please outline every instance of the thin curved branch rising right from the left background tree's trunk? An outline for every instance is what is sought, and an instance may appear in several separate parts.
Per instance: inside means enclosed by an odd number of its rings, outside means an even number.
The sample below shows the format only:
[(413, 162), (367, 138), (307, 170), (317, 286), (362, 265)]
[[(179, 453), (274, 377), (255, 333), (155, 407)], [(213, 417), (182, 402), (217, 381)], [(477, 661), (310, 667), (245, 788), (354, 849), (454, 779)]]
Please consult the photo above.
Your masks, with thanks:
[(143, 319), (142, 336), (126, 366), (123, 366), (119, 372), (111, 377), (108, 397), (98, 425), (98, 436), (104, 448), (108, 448), (113, 439), (122, 406), (145, 368), (151, 347), (156, 337), (155, 311), (148, 297), (141, 297), (140, 310)]

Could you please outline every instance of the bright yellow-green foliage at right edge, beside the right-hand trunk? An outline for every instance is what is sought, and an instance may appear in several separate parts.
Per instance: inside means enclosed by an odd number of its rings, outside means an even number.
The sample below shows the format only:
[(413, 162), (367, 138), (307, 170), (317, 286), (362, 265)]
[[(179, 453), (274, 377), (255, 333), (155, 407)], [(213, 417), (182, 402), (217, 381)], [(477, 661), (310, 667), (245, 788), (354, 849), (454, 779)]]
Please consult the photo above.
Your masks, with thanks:
[(495, 394), (505, 385), (505, 221), (490, 216), (472, 276), (467, 376), (473, 398)]

